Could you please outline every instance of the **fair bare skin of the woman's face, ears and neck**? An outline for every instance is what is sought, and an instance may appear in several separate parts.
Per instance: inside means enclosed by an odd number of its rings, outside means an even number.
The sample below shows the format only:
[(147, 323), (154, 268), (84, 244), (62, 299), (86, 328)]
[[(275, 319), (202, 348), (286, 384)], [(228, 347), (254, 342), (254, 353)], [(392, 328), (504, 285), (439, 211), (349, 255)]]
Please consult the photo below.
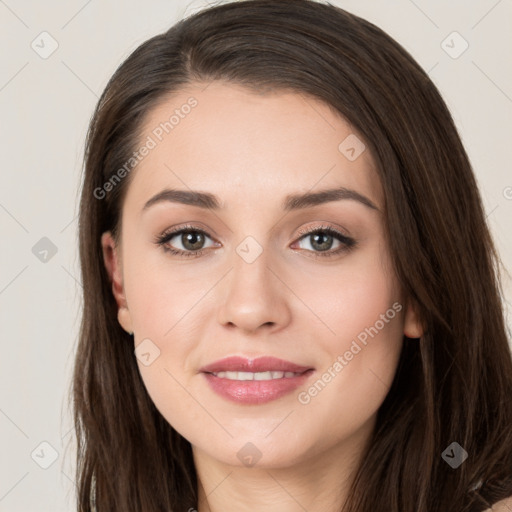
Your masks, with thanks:
[[(109, 232), (102, 237), (119, 322), (134, 332), (134, 347), (149, 339), (160, 351), (149, 366), (137, 364), (156, 407), (192, 444), (199, 512), (234, 505), (338, 511), (395, 375), (403, 335), (423, 332), (392, 270), (375, 162), (369, 149), (354, 161), (340, 152), (356, 132), (316, 99), (205, 85), (149, 112), (141, 140), (191, 95), (198, 101), (132, 171), (118, 244)], [(350, 199), (281, 208), (287, 194), (340, 186), (378, 210)], [(161, 202), (141, 213), (164, 188), (210, 192), (225, 208)], [(202, 255), (174, 256), (155, 243), (183, 224), (208, 234)], [(355, 239), (355, 248), (315, 258), (321, 250), (299, 230), (326, 225)], [(236, 250), (247, 236), (262, 249), (252, 263)], [(186, 250), (185, 243), (178, 235), (168, 245)], [(330, 251), (341, 244), (333, 239)], [(402, 306), (394, 318), (309, 403), (300, 403), (299, 392), (394, 303)], [(272, 355), (315, 373), (278, 400), (236, 404), (199, 373), (230, 355)], [(248, 442), (261, 452), (252, 467), (237, 457)]]

